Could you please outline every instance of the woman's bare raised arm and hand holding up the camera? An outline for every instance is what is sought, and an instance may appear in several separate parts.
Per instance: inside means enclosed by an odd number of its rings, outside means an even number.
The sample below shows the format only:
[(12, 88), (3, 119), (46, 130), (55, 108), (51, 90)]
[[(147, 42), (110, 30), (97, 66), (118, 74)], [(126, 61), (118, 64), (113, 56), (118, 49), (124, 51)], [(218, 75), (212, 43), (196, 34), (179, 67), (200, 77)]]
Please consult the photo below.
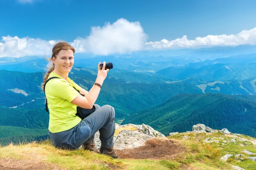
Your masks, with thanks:
[[(105, 78), (108, 74), (109, 69), (105, 70), (105, 66), (106, 66), (105, 61), (103, 62), (102, 70), (100, 69), (100, 64), (101, 64), (101, 62), (99, 62), (99, 65), (98, 65), (98, 75), (97, 75), (95, 83), (99, 83), (100, 85), (102, 85), (103, 81), (105, 80)], [(78, 95), (71, 102), (74, 105), (77, 105), (84, 109), (92, 109), (95, 101), (97, 100), (97, 98), (99, 96), (100, 90), (101, 90), (101, 87), (99, 87), (98, 85), (93, 85), (92, 88), (90, 89), (90, 92), (88, 92), (88, 94), (85, 97)], [(83, 90), (81, 89), (81, 92), (82, 91)]]

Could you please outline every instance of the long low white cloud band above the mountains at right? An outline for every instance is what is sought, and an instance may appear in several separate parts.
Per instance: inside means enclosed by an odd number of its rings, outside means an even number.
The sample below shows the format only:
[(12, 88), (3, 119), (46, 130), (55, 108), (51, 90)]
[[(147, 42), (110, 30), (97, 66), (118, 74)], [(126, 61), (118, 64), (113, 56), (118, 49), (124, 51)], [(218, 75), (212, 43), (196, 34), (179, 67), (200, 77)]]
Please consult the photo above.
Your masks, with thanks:
[(206, 37), (196, 37), (193, 40), (187, 39), (186, 35), (182, 38), (168, 41), (146, 42), (145, 49), (165, 49), (165, 48), (202, 48), (211, 46), (238, 46), (238, 45), (255, 45), (256, 28), (243, 30), (236, 35), (207, 35)]

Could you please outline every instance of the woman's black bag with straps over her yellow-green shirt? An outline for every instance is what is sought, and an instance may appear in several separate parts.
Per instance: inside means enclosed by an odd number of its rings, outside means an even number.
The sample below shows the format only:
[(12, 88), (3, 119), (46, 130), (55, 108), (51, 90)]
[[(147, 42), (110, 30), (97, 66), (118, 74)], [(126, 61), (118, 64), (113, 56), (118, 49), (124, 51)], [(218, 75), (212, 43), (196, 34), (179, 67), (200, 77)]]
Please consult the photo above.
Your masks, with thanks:
[[(46, 85), (46, 83), (47, 83), (49, 80), (51, 80), (51, 79), (53, 79), (53, 78), (59, 78), (59, 77), (51, 77), (51, 78), (49, 78), (49, 79), (45, 82), (45, 85)], [(74, 86), (73, 86), (73, 88), (74, 88), (77, 92), (79, 92), (79, 90), (77, 90)], [(45, 91), (45, 87), (44, 87), (44, 91)], [(81, 94), (81, 93), (79, 92), (79, 94)], [(81, 95), (84, 96), (84, 94), (81, 94)], [(46, 101), (45, 101), (45, 110), (49, 113), (46, 95), (45, 95), (45, 99), (46, 99)], [(95, 111), (95, 106), (94, 106), (94, 105), (93, 105), (92, 109), (84, 109), (84, 108), (79, 107), (79, 106), (76, 107), (76, 115), (79, 116), (81, 119), (86, 118), (87, 116), (89, 116), (90, 114), (92, 114), (94, 111)]]

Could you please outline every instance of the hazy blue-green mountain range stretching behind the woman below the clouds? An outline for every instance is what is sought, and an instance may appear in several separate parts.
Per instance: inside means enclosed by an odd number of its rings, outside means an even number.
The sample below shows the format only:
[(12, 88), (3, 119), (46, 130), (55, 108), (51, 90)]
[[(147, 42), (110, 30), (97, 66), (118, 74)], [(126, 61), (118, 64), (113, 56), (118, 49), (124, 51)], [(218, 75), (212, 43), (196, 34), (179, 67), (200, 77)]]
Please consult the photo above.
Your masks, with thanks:
[[(90, 90), (99, 61), (112, 62), (96, 103), (115, 107), (118, 123), (146, 123), (164, 134), (204, 123), (255, 137), (255, 47), (75, 54), (69, 77)], [(0, 69), (0, 126), (5, 129), (0, 138), (8, 143), (13, 137), (18, 141), (47, 136), (49, 116), (40, 87), (47, 71), (45, 58), (2, 57)], [(13, 126), (32, 130), (25, 137)]]

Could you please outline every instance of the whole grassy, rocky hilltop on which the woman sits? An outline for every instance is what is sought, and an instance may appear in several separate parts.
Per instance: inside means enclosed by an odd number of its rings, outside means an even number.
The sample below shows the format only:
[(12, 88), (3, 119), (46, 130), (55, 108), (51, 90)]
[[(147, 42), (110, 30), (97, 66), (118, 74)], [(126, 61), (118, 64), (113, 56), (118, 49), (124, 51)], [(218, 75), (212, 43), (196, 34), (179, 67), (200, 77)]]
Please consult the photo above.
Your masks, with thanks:
[[(54, 148), (49, 139), (9, 144), (0, 147), (0, 168), (232, 170), (239, 166), (252, 170), (256, 167), (253, 158), (248, 158), (256, 156), (255, 138), (227, 132), (227, 129), (213, 130), (203, 125), (197, 126), (192, 131), (171, 133), (165, 137), (146, 124), (117, 125), (114, 147), (119, 159), (83, 149)], [(205, 127), (209, 132), (200, 127)], [(128, 143), (131, 139), (135, 139), (134, 142)], [(138, 139), (144, 141), (136, 142)]]

